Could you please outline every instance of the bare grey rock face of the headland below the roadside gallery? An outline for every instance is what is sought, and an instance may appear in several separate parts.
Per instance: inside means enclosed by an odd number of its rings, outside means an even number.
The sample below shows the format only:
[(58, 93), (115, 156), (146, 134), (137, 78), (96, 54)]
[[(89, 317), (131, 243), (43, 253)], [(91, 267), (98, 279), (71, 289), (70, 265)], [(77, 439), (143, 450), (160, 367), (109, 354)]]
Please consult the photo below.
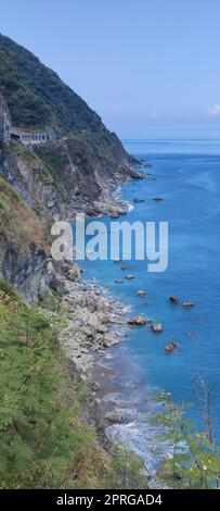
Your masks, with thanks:
[(50, 219), (73, 219), (79, 211), (92, 216), (125, 214), (126, 204), (117, 197), (113, 199), (112, 191), (129, 178), (141, 178), (128, 166), (129, 159), (121, 154), (127, 166), (115, 162), (108, 171), (99, 158), (85, 166), (85, 157), (79, 158), (72, 144), (53, 141), (35, 150), (11, 145), (2, 154), (0, 173), (47, 223)]

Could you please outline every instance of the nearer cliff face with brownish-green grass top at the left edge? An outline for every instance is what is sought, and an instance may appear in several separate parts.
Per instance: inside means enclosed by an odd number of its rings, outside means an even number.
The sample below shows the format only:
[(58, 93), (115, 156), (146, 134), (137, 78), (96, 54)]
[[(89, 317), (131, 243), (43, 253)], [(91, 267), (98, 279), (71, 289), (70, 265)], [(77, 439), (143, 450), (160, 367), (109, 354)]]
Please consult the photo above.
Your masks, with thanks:
[(50, 284), (49, 241), (41, 222), (0, 177), (0, 277), (29, 302)]

